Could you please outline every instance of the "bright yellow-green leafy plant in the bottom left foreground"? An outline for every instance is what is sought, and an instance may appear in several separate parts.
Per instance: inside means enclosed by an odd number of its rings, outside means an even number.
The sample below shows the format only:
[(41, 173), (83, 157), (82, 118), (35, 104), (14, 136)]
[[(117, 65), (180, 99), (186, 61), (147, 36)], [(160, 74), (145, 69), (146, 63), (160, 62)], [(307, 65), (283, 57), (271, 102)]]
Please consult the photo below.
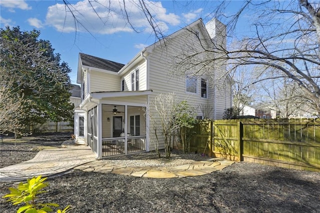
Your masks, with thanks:
[[(10, 193), (5, 194), (3, 198), (8, 197), (7, 201), (12, 202), (13, 205), (24, 203), (19, 207), (17, 213), (46, 213), (51, 212), (52, 206), (58, 207), (57, 203), (41, 203), (37, 201), (37, 195), (44, 193), (44, 187), (48, 186), (47, 182), (44, 182), (47, 177), (41, 178), (41, 175), (27, 179), (26, 183), (20, 182), (17, 188), (9, 187)], [(66, 206), (63, 210), (58, 209), (57, 213), (65, 213), (70, 209), (70, 205)]]

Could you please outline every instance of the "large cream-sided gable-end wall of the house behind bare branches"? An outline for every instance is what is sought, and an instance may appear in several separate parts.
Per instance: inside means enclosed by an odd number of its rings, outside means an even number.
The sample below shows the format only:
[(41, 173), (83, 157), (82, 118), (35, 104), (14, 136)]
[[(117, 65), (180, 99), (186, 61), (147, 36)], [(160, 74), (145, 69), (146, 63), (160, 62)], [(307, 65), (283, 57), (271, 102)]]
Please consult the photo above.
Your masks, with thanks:
[[(225, 108), (231, 107), (231, 83), (227, 81), (226, 85), (223, 85), (221, 88), (213, 89), (208, 86), (207, 98), (201, 97), (201, 77), (205, 76), (205, 73), (209, 76), (214, 75), (214, 72), (224, 72), (225, 66), (220, 67), (210, 67), (207, 70), (201, 71), (197, 75), (197, 92), (189, 93), (186, 92), (185, 87), (185, 72), (192, 74), (198, 72), (198, 67), (192, 67), (192, 64), (188, 66), (187, 64), (177, 64), (176, 58), (181, 58), (181, 56), (191, 55), (193, 52), (200, 52), (201, 46), (199, 42), (201, 41), (202, 45), (206, 43), (206, 35), (202, 34), (201, 30), (202, 25), (195, 25), (193, 29), (182, 30), (178, 36), (173, 36), (172, 38), (165, 41), (165, 45), (159, 45), (155, 48), (152, 48), (152, 53), (148, 55), (148, 68), (149, 68), (149, 89), (152, 89), (152, 94), (149, 95), (149, 100), (152, 100), (159, 93), (169, 93), (174, 92), (175, 95), (179, 96), (180, 100), (187, 100), (187, 102), (197, 108), (197, 114), (202, 115), (200, 110), (200, 104), (214, 104), (215, 112), (212, 112), (212, 118), (222, 118), (222, 114)], [(199, 38), (195, 36), (194, 33), (191, 33), (189, 30), (196, 30), (199, 32)], [(200, 41), (199, 41), (200, 39)], [(181, 48), (182, 47), (182, 48)], [(199, 58), (195, 58), (193, 63), (196, 63), (197, 59), (203, 60), (204, 57), (213, 58), (214, 55), (199, 55)], [(205, 77), (204, 77), (205, 78)], [(211, 78), (206, 78), (208, 82)], [(221, 84), (223, 84), (221, 82)], [(210, 85), (210, 83), (208, 83)], [(216, 96), (215, 96), (216, 95)], [(150, 111), (150, 113), (155, 113), (155, 111)], [(216, 115), (216, 116), (215, 116)], [(150, 123), (150, 149), (154, 149), (154, 143), (156, 141), (154, 135), (154, 128)], [(160, 135), (157, 135), (158, 137)], [(159, 148), (164, 148), (164, 141), (159, 138)]]

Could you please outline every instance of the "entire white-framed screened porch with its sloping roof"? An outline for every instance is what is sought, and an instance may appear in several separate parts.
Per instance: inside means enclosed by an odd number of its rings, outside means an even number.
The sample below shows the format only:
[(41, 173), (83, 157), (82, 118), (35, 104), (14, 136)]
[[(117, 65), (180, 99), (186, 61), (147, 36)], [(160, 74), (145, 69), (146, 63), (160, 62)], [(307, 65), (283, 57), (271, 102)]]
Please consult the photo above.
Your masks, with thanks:
[(74, 133), (98, 159), (148, 151), (147, 96), (151, 90), (91, 92), (74, 112)]

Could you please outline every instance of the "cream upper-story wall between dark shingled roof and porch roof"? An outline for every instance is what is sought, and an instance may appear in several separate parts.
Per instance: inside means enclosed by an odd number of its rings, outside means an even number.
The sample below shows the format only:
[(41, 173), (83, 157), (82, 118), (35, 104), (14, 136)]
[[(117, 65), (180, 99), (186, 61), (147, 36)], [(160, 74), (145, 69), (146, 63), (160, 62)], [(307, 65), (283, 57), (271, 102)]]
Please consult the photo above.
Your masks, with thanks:
[(90, 71), (90, 92), (95, 91), (120, 91), (120, 77), (102, 71)]

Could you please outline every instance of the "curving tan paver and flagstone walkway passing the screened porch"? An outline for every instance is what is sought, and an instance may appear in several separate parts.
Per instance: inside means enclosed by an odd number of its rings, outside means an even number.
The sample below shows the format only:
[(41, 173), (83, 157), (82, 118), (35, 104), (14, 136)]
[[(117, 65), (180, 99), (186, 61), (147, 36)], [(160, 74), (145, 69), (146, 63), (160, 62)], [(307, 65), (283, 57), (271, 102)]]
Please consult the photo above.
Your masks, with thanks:
[(151, 178), (198, 176), (233, 163), (230, 160), (212, 158), (210, 161), (195, 161), (174, 167), (136, 167), (107, 164), (96, 160), (95, 156), (88, 146), (71, 145), (40, 150), (31, 160), (0, 168), (0, 181), (21, 181), (37, 175), (57, 175), (71, 168)]

